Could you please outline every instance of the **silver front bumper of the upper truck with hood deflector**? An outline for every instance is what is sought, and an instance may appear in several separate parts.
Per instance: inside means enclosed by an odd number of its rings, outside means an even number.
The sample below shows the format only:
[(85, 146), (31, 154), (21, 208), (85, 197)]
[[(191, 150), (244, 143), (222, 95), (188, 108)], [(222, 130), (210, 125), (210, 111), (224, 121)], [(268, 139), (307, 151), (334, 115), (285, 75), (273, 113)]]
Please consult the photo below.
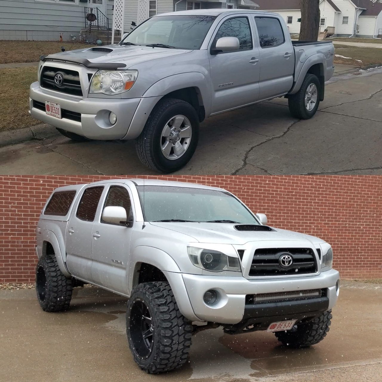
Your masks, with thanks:
[[(45, 100), (60, 104), (61, 110), (79, 113), (81, 115), (80, 121), (71, 118), (59, 119), (47, 115), (45, 110), (41, 110), (41, 108), (34, 107), (33, 101), (45, 105)], [(123, 139), (140, 101), (141, 98), (69, 97), (65, 94), (43, 89), (38, 82), (32, 83), (29, 89), (29, 110), (32, 117), (90, 139)], [(114, 125), (109, 121), (110, 112), (117, 116), (117, 123)], [(64, 115), (64, 113), (62, 114)], [(70, 117), (69, 114), (67, 113), (68, 117)], [(140, 125), (142, 124), (140, 123)]]

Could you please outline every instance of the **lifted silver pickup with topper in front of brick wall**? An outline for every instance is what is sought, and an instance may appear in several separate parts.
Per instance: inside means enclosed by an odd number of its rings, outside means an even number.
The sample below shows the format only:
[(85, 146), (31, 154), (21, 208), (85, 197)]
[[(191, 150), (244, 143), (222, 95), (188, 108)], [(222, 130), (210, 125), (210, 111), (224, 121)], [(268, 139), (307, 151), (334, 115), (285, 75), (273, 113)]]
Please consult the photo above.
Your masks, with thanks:
[(38, 301), (65, 311), (81, 282), (128, 297), (129, 347), (151, 373), (184, 364), (191, 335), (210, 328), (314, 345), (339, 293), (332, 248), (266, 223), (233, 194), (191, 183), (58, 188), (37, 224)]

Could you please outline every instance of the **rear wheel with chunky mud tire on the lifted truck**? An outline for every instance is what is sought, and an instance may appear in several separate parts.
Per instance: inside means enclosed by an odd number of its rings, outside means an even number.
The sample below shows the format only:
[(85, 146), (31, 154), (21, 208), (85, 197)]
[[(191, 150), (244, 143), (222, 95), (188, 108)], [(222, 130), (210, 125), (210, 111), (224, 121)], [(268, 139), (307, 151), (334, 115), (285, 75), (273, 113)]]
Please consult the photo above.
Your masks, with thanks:
[(36, 292), (41, 308), (45, 312), (68, 310), (72, 290), (71, 278), (61, 272), (56, 257), (40, 257), (36, 266)]

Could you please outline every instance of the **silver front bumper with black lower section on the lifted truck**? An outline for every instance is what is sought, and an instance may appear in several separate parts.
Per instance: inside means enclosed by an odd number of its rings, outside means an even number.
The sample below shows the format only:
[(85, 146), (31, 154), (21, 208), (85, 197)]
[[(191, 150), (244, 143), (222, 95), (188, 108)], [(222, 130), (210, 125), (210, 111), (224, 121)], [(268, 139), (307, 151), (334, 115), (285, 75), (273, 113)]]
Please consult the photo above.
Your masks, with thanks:
[[(266, 322), (271, 317), (272, 319), (278, 317), (278, 320), (293, 318), (293, 316), (301, 319), (309, 317), (309, 314), (313, 317), (322, 311), (331, 309), (338, 298), (336, 284), (339, 280), (339, 273), (333, 269), (314, 276), (282, 279), (248, 280), (244, 277), (203, 276), (171, 272), (166, 272), (166, 277), (173, 290), (186, 289), (188, 299), (185, 296), (180, 299), (175, 296), (183, 315), (190, 320), (195, 320), (197, 317), (201, 321), (219, 324), (238, 324), (251, 318), (262, 319), (263, 322)], [(213, 305), (207, 305), (203, 301), (204, 293), (210, 289), (219, 294), (218, 301)], [(261, 304), (261, 307), (246, 304), (246, 295), (312, 289), (326, 289), (326, 296), (301, 300), (297, 303), (290, 301), (287, 304), (266, 303)]]

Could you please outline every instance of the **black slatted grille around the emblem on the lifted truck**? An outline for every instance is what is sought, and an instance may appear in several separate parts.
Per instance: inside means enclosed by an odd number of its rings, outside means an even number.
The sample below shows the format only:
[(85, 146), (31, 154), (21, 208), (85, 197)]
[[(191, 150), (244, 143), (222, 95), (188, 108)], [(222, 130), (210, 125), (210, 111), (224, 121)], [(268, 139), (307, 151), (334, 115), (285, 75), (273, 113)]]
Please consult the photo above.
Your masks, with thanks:
[[(292, 257), (288, 267), (279, 259), (285, 254)], [(317, 272), (316, 257), (311, 248), (262, 248), (256, 249), (249, 276), (298, 275)]]

